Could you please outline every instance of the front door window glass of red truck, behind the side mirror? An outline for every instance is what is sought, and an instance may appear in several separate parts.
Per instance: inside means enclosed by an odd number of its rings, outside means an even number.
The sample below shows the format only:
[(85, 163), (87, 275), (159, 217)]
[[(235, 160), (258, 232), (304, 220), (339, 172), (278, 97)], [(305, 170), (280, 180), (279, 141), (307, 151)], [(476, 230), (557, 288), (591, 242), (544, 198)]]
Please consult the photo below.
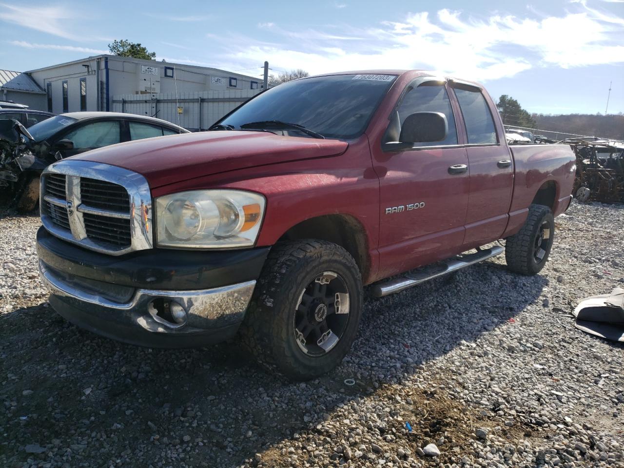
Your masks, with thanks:
[(444, 86), (421, 85), (409, 90), (399, 106), (401, 125), (403, 125), (408, 115), (416, 112), (441, 112), (446, 115), (449, 133), (446, 135), (445, 140), (416, 143), (414, 146), (457, 145), (457, 125), (455, 124), (451, 100)]

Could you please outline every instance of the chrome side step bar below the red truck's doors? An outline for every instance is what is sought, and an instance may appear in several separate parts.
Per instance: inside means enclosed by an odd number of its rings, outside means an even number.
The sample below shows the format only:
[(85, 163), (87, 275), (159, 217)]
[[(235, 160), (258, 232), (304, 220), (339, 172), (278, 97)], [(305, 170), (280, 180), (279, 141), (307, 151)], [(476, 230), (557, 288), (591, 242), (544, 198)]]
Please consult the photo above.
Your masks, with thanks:
[(458, 255), (454, 258), (449, 258), (444, 265), (431, 265), (426, 266), (422, 270), (414, 273), (409, 273), (402, 276), (402, 278), (396, 278), (386, 283), (380, 283), (373, 288), (373, 295), (378, 298), (388, 296), (390, 294), (398, 293), (412, 286), (419, 285), (425, 281), (432, 280), (438, 276), (447, 275), (453, 271), (461, 270), (466, 266), (474, 265), (480, 261), (487, 260), (496, 255), (503, 253), (505, 249), (500, 245), (487, 248), (485, 250), (479, 250), (469, 255)]

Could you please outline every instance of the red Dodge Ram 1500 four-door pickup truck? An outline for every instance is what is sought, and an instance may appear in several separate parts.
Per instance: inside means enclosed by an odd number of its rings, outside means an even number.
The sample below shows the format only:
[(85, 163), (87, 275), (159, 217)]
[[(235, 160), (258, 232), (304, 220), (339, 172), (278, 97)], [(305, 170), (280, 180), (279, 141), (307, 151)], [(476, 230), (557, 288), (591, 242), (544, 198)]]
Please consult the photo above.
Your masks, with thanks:
[(363, 285), (384, 296), (503, 251), (534, 275), (572, 199), (570, 147), (509, 147), (479, 84), (431, 72), (295, 80), (211, 130), (47, 168), (37, 251), (58, 313), (144, 346), (238, 335), (310, 379), (351, 348)]

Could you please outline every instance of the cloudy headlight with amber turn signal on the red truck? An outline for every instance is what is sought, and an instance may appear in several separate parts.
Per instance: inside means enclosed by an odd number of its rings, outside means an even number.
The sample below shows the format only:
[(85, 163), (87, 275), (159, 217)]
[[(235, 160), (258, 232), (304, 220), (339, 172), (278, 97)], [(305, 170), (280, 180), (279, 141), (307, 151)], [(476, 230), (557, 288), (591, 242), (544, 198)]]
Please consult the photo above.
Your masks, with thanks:
[(190, 190), (156, 198), (157, 245), (226, 248), (252, 246), (265, 197), (243, 190)]

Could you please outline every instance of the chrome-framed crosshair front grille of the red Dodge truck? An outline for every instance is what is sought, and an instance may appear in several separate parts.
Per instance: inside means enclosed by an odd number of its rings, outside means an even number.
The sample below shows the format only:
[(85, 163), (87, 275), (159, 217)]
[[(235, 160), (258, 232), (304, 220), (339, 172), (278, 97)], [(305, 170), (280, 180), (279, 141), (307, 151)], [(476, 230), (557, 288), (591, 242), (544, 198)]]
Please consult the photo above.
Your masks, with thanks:
[(145, 178), (102, 163), (62, 161), (42, 175), (41, 219), (52, 234), (121, 255), (152, 247), (152, 202)]

